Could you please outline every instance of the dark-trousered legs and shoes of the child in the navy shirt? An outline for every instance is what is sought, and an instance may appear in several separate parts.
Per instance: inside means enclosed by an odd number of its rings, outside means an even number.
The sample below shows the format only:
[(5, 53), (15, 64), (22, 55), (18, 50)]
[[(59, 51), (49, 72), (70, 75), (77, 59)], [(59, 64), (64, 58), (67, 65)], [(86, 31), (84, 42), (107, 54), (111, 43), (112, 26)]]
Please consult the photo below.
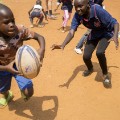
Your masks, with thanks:
[(99, 64), (100, 64), (100, 67), (103, 73), (103, 79), (104, 79), (103, 84), (106, 87), (111, 86), (111, 81), (108, 76), (107, 62), (106, 62), (106, 57), (105, 57), (105, 50), (107, 49), (109, 45), (108, 40), (109, 39), (106, 39), (106, 38), (102, 38), (100, 40), (87, 40), (87, 43), (84, 49), (84, 55), (83, 55), (83, 60), (88, 68), (88, 70), (85, 70), (83, 72), (83, 76), (88, 76), (93, 72), (93, 65), (91, 62), (91, 57), (92, 57), (93, 51), (95, 50), (98, 44), (96, 55), (97, 55), (97, 58), (98, 58), (98, 61), (99, 61)]

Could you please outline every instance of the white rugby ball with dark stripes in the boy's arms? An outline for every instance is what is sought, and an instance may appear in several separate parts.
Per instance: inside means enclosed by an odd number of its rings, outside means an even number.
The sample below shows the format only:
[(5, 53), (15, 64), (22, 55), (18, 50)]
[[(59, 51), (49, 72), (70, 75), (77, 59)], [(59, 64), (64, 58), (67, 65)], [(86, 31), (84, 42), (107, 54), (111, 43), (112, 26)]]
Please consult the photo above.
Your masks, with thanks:
[(21, 46), (16, 53), (15, 63), (18, 71), (26, 78), (35, 78), (40, 71), (40, 56), (29, 46)]

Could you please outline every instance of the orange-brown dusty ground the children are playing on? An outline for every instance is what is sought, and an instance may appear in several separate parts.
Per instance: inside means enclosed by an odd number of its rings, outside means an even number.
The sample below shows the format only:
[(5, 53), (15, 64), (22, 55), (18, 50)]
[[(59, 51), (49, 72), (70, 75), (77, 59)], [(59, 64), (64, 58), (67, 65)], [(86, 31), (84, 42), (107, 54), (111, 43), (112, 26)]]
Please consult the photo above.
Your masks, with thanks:
[[(44, 1), (44, 0), (43, 0)], [(55, 1), (53, 0), (55, 6)], [(35, 0), (4, 0), (12, 10), (16, 23), (29, 27), (28, 10)], [(120, 22), (120, 1), (105, 0), (106, 9)], [(53, 6), (53, 7), (54, 7)], [(62, 43), (66, 33), (61, 33), (62, 12), (56, 13), (57, 20), (44, 21), (44, 28), (33, 28), (33, 31), (46, 39), (46, 54), (43, 67), (38, 77), (33, 79), (34, 96), (25, 103), (20, 96), (16, 82), (13, 80), (11, 90), (15, 97), (8, 107), (0, 109), (0, 120), (120, 120), (120, 49), (115, 50), (111, 42), (106, 51), (112, 88), (106, 89), (102, 84), (101, 70), (95, 53), (92, 61), (95, 72), (84, 78), (86, 69), (82, 55), (74, 52), (76, 43), (86, 31), (80, 26), (71, 43), (64, 51), (51, 51), (53, 43)], [(68, 23), (68, 28), (70, 21)], [(36, 49), (38, 44), (29, 41), (25, 44)], [(59, 87), (67, 83), (67, 87)]]

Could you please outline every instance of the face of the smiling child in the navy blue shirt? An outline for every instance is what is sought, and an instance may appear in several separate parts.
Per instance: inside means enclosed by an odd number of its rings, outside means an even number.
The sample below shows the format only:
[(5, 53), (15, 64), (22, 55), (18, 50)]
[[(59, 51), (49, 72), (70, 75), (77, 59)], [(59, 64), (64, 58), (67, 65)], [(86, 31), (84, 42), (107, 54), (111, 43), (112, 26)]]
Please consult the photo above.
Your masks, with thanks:
[(75, 10), (80, 16), (86, 13), (88, 5), (89, 5), (88, 0), (75, 0), (74, 1)]

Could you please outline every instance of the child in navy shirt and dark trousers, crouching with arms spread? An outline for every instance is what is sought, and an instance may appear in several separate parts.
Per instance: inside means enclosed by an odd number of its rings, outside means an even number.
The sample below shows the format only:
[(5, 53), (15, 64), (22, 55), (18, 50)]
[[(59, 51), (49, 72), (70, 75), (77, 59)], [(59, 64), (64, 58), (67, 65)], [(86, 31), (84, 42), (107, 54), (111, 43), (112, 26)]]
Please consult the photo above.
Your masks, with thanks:
[(61, 45), (52, 45), (52, 50), (64, 49), (74, 37), (78, 26), (82, 23), (85, 27), (91, 29), (84, 48), (83, 60), (87, 70), (83, 72), (83, 76), (87, 77), (94, 71), (91, 58), (97, 47), (96, 55), (103, 73), (103, 84), (105, 87), (111, 87), (105, 51), (109, 46), (111, 38), (115, 42), (116, 49), (118, 49), (119, 23), (100, 5), (95, 4), (90, 7), (89, 0), (75, 0), (74, 6), (76, 12), (72, 19), (71, 30)]

